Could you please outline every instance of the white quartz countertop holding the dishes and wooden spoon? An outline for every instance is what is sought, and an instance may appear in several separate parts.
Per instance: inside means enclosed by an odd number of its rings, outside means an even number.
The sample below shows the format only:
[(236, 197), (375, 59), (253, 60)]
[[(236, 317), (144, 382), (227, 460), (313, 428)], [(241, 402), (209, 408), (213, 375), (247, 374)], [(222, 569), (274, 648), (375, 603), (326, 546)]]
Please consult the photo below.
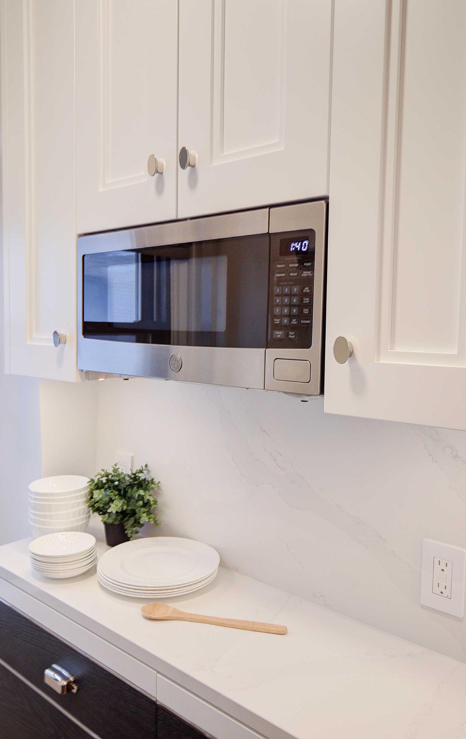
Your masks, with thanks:
[(466, 738), (462, 662), (225, 568), (168, 602), (286, 624), (286, 636), (146, 621), (145, 601), (104, 590), (95, 568), (70, 580), (33, 574), (29, 542), (0, 547), (3, 579), (269, 739)]

